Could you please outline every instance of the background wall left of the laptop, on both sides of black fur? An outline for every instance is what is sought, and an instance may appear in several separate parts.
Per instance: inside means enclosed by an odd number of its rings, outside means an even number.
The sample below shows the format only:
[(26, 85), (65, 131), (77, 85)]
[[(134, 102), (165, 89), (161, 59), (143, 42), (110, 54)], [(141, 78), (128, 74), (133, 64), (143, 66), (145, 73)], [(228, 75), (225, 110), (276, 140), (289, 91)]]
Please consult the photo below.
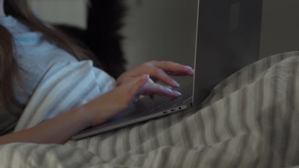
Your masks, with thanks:
[[(85, 27), (84, 0), (30, 0), (41, 18)], [(192, 65), (197, 0), (126, 0), (129, 11), (123, 51), (128, 68), (149, 60), (173, 60)]]

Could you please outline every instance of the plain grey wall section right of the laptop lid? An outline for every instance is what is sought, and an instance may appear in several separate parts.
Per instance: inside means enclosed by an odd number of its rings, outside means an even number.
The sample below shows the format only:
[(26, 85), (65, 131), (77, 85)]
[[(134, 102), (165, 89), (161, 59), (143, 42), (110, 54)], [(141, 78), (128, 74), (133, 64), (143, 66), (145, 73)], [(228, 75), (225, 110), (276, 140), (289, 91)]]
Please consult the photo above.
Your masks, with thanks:
[(299, 50), (299, 0), (264, 0), (260, 56)]

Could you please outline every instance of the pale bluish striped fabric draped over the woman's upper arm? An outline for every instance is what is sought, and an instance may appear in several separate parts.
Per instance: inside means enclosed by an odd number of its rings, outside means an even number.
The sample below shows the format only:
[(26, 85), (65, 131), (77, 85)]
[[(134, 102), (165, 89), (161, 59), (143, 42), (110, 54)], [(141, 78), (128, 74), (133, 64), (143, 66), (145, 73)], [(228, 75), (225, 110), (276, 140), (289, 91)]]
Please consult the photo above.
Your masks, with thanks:
[(14, 131), (30, 128), (86, 104), (115, 85), (115, 80), (93, 67), (90, 60), (58, 62), (37, 86)]

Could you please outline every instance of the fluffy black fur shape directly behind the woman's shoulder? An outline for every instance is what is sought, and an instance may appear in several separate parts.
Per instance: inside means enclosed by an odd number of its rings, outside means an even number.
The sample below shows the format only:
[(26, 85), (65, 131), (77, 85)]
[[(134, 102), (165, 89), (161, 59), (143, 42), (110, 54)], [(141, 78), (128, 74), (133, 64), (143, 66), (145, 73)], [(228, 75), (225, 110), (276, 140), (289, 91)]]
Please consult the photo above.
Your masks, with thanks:
[(117, 78), (125, 71), (126, 59), (121, 50), (124, 0), (89, 0), (87, 28), (55, 25), (87, 46), (102, 64), (103, 70)]

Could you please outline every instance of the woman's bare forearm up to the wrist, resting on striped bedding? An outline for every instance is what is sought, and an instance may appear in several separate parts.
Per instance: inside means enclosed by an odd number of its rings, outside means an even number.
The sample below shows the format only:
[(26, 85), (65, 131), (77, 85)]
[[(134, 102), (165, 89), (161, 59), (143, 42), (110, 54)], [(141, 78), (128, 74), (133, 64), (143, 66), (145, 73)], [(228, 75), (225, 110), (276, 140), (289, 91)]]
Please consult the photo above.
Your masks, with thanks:
[(0, 137), (0, 145), (13, 142), (64, 144), (75, 133), (90, 126), (89, 116), (77, 108), (34, 127)]

